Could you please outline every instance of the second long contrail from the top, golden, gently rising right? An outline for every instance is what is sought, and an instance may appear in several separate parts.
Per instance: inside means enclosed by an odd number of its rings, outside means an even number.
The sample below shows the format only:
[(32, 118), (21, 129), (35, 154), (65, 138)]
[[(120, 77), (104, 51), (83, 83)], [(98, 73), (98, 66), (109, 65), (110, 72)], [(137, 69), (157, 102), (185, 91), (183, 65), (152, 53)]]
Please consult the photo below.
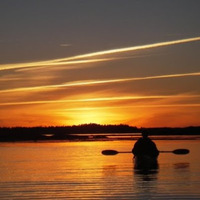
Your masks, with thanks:
[(178, 77), (187, 77), (187, 76), (200, 76), (200, 72), (182, 73), (182, 74), (167, 74), (167, 75), (134, 77), (134, 78), (123, 78), (123, 79), (107, 79), (107, 80), (91, 80), (91, 81), (69, 82), (69, 83), (62, 83), (62, 84), (55, 84), (55, 85), (44, 85), (44, 86), (35, 86), (35, 87), (22, 87), (22, 88), (14, 88), (14, 89), (5, 89), (5, 90), (0, 90), (0, 93), (24, 92), (24, 91), (29, 91), (29, 92), (30, 91), (42, 91), (42, 90), (46, 90), (46, 89), (56, 89), (56, 88), (61, 88), (61, 87), (78, 87), (78, 86), (87, 86), (87, 85), (110, 84), (110, 83), (119, 83), (119, 82), (128, 82), (128, 81), (163, 79), (163, 78), (178, 78)]

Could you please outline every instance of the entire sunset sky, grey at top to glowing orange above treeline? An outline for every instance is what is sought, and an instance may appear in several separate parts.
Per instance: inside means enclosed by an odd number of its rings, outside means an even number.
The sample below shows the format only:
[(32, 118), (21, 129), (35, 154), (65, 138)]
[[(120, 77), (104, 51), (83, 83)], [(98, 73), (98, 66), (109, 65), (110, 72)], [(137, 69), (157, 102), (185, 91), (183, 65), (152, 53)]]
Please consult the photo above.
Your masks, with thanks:
[(0, 127), (200, 126), (199, 0), (0, 0)]

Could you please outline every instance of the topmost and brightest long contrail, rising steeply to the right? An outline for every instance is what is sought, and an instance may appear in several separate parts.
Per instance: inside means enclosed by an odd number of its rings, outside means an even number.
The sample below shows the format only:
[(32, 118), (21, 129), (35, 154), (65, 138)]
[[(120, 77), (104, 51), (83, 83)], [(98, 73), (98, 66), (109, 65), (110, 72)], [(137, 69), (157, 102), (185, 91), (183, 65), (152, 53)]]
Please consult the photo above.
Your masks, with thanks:
[(173, 41), (167, 41), (167, 42), (158, 42), (158, 43), (153, 43), (153, 44), (140, 45), (140, 46), (110, 49), (110, 50), (105, 50), (105, 51), (92, 52), (92, 53), (60, 58), (60, 59), (52, 59), (52, 60), (47, 60), (47, 61), (6, 64), (6, 65), (0, 65), (0, 70), (57, 65), (59, 62), (67, 62), (67, 61), (72, 61), (72, 60), (77, 60), (77, 59), (85, 59), (89, 57), (104, 56), (104, 55), (123, 53), (123, 52), (129, 52), (129, 51), (164, 47), (164, 46), (194, 42), (194, 41), (199, 41), (199, 40), (200, 40), (200, 37), (193, 37), (193, 38), (186, 38), (186, 39), (173, 40)]

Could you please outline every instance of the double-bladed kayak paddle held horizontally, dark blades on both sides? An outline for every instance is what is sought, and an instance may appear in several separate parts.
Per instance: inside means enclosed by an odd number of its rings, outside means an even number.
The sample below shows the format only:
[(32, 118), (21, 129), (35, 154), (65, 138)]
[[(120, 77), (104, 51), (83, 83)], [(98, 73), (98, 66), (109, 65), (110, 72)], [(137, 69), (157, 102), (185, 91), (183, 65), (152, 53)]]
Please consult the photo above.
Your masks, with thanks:
[[(190, 151), (188, 149), (175, 149), (173, 151), (159, 151), (160, 153), (173, 153), (173, 154), (179, 154), (179, 155), (183, 155), (183, 154), (188, 154)], [(116, 155), (118, 153), (132, 153), (131, 151), (116, 151), (116, 150), (103, 150), (101, 152), (103, 155), (106, 156), (113, 156)]]

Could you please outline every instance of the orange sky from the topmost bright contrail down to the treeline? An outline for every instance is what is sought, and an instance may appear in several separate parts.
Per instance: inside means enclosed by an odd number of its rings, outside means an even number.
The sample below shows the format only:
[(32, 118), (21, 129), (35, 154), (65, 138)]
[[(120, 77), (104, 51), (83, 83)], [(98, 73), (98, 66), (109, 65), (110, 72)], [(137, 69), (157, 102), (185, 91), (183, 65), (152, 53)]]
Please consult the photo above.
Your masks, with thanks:
[(200, 125), (199, 40), (2, 64), (0, 126)]

